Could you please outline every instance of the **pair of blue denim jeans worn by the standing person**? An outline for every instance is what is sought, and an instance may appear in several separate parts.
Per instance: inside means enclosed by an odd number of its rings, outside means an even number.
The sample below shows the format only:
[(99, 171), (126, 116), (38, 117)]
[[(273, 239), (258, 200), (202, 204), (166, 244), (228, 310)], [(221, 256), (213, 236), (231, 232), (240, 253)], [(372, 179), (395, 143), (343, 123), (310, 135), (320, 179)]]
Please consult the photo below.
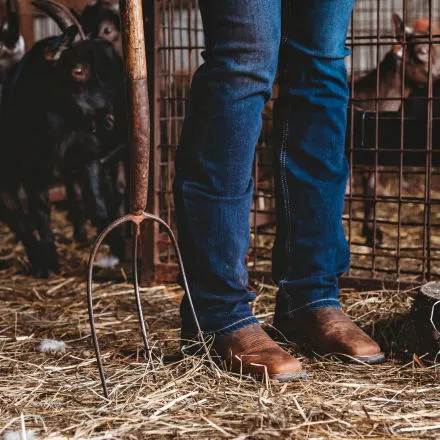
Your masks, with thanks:
[[(201, 328), (257, 323), (250, 308), (252, 162), (275, 73), (277, 313), (340, 306), (349, 265), (342, 227), (345, 39), (354, 0), (200, 0), (205, 63), (191, 86), (176, 155), (179, 242)], [(194, 333), (186, 298), (182, 333)]]

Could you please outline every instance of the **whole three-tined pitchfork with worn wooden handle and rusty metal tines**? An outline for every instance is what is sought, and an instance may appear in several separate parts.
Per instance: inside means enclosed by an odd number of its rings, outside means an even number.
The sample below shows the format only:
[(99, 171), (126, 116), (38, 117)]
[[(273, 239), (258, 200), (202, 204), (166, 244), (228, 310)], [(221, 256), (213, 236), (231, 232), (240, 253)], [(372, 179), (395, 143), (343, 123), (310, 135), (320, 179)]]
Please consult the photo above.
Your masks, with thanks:
[(142, 339), (145, 351), (149, 359), (149, 364), (153, 367), (153, 359), (148, 344), (147, 331), (145, 328), (142, 313), (141, 299), (139, 295), (139, 282), (137, 273), (138, 237), (140, 236), (140, 225), (144, 220), (160, 223), (167, 231), (176, 252), (177, 261), (182, 274), (183, 287), (188, 297), (191, 311), (194, 317), (195, 326), (200, 342), (203, 344), (205, 352), (210, 358), (209, 349), (203, 338), (194, 304), (186, 279), (182, 257), (177, 245), (176, 238), (170, 227), (159, 217), (145, 212), (148, 195), (148, 175), (150, 157), (150, 114), (148, 108), (148, 84), (147, 84), (147, 64), (145, 57), (145, 40), (143, 29), (142, 3), (141, 0), (120, 0), (122, 39), (124, 46), (125, 73), (127, 76), (127, 94), (130, 124), (130, 212), (127, 215), (115, 220), (107, 226), (98, 236), (93, 245), (87, 269), (87, 304), (89, 309), (90, 328), (93, 343), (95, 346), (96, 360), (98, 362), (99, 375), (101, 377), (104, 396), (108, 399), (109, 393), (104, 375), (101, 352), (99, 349), (98, 337), (96, 334), (95, 316), (93, 312), (92, 298), (92, 279), (93, 263), (104, 238), (117, 226), (123, 223), (133, 223), (135, 234), (133, 237), (133, 285), (136, 297), (136, 307), (139, 316), (139, 324), (142, 331)]

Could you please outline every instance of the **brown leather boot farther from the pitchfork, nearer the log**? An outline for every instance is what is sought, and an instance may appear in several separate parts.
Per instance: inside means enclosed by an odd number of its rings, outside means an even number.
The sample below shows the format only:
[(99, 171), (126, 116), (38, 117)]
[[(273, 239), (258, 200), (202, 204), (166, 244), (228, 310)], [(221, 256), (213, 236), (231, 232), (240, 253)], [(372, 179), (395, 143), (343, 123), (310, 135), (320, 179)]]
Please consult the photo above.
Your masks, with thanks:
[(339, 307), (322, 307), (293, 317), (275, 316), (274, 326), (290, 340), (299, 332), (304, 334), (321, 354), (370, 365), (386, 362), (379, 345)]

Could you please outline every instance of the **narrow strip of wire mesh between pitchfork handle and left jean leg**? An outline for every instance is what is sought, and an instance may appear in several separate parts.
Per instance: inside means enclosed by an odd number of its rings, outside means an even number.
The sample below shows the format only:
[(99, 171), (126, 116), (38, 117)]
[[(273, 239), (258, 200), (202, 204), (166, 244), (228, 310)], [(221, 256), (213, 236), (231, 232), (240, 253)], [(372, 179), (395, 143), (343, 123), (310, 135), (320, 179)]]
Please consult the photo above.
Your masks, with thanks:
[[(174, 157), (182, 130), (191, 77), (202, 63), (204, 39), (196, 1), (166, 0), (155, 4), (155, 206), (175, 228), (172, 182)], [(174, 252), (160, 227), (155, 231), (155, 264), (174, 264)], [(167, 270), (163, 272), (165, 275)]]

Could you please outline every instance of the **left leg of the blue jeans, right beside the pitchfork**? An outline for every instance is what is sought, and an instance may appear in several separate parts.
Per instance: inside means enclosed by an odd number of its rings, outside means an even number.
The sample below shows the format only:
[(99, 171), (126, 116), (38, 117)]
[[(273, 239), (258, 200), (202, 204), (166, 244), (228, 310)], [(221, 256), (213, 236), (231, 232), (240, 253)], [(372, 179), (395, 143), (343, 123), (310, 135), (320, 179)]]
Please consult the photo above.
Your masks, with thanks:
[[(256, 323), (249, 302), (251, 178), (261, 111), (280, 44), (280, 0), (201, 0), (205, 63), (191, 85), (176, 154), (179, 244), (202, 330), (228, 334)], [(188, 301), (182, 333), (194, 333)]]

